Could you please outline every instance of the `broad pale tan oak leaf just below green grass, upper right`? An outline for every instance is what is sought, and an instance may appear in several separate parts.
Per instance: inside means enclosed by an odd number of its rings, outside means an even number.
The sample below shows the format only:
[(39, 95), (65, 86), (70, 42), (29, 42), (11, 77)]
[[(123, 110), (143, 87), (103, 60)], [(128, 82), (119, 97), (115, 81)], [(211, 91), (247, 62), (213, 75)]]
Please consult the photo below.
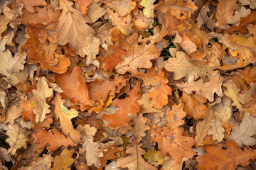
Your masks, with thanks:
[(188, 57), (185, 52), (176, 52), (176, 57), (170, 57), (168, 62), (164, 64), (164, 68), (169, 72), (174, 72), (174, 79), (178, 80), (182, 77), (194, 76), (204, 78), (206, 73), (210, 73), (213, 69), (208, 65), (203, 65), (200, 61), (188, 61)]

